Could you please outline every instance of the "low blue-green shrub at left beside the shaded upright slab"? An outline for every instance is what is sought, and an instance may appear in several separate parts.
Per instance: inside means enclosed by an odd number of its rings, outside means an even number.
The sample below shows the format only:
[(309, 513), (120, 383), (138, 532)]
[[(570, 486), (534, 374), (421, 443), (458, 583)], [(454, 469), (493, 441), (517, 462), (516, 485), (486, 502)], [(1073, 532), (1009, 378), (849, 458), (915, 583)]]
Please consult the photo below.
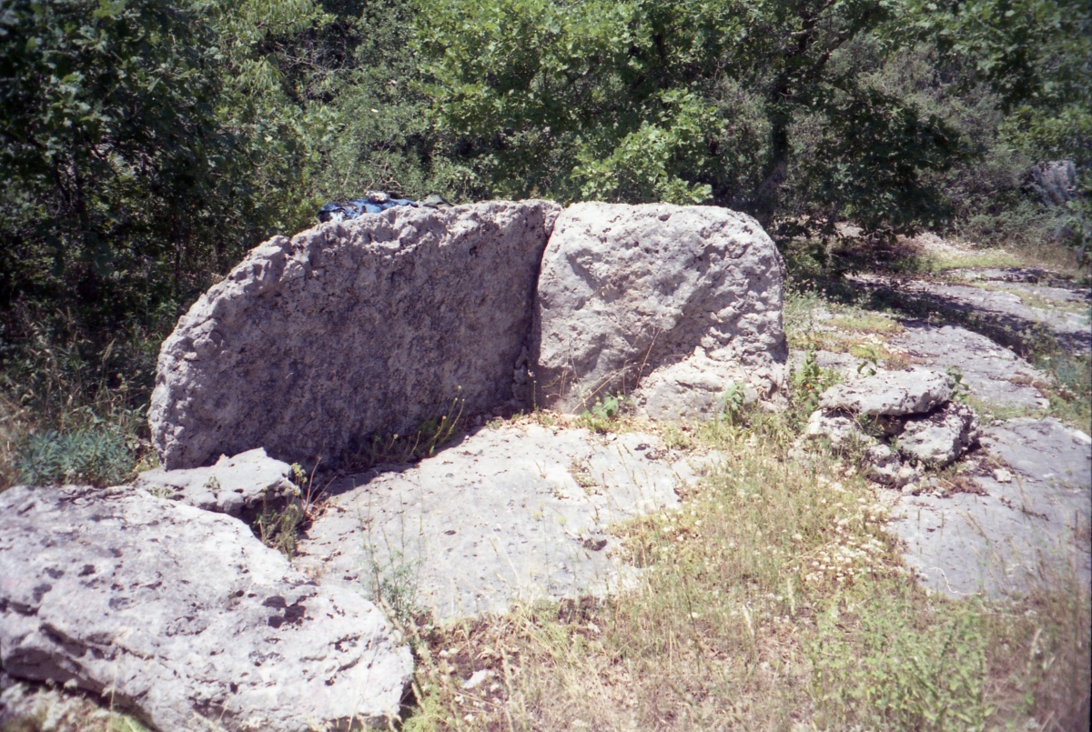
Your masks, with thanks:
[(110, 427), (31, 435), (16, 459), (21, 480), (32, 485), (116, 485), (132, 475), (135, 465), (126, 435)]

